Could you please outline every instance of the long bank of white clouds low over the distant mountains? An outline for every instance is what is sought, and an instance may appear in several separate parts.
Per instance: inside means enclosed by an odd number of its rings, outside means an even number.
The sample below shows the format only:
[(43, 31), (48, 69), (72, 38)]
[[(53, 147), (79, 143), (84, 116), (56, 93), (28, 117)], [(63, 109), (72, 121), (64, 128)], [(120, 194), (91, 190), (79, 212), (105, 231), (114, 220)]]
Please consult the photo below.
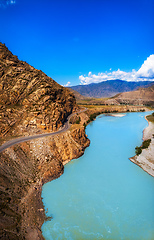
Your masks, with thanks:
[(80, 75), (79, 79), (80, 83), (84, 85), (115, 79), (125, 81), (154, 81), (154, 54), (150, 55), (147, 60), (144, 61), (138, 71), (133, 69), (131, 72), (124, 72), (118, 69), (117, 71), (98, 73), (97, 75), (89, 72), (88, 76)]

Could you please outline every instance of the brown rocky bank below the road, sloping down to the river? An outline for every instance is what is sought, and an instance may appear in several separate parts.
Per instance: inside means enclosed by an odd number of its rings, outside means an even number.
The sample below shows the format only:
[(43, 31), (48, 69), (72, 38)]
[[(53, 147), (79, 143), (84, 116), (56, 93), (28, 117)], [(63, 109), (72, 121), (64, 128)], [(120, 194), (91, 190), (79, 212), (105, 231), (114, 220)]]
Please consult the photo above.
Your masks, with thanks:
[[(60, 177), (67, 162), (83, 155), (90, 144), (84, 123), (91, 114), (93, 109), (74, 116), (74, 120), (71, 119), (74, 123), (65, 133), (23, 142), (0, 153), (5, 177), (1, 186), (2, 201), (6, 206), (6, 210), (3, 207), (4, 224), (0, 236), (6, 234), (10, 239), (19, 240), (43, 239), (41, 226), (46, 215), (41, 199), (42, 186)], [(78, 117), (80, 124), (76, 124)]]

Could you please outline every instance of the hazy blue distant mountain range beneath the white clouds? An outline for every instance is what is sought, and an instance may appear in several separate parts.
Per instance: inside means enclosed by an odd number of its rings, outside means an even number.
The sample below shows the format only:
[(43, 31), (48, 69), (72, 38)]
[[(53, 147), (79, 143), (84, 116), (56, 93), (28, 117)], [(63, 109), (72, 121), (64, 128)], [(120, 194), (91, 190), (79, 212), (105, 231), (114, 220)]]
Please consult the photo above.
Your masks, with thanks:
[(91, 83), (88, 85), (72, 86), (71, 89), (77, 91), (85, 97), (113, 97), (118, 93), (137, 90), (139, 87), (149, 87), (151, 81), (127, 82), (123, 80), (108, 80), (100, 83)]

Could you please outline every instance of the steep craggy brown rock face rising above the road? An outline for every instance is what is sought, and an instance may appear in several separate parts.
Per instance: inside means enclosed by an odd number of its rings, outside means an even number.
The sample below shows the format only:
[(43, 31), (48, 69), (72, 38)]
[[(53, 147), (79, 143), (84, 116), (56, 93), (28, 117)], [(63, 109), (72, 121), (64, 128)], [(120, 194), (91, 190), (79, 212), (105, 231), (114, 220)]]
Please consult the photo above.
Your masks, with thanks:
[(56, 131), (76, 109), (74, 95), (19, 61), (0, 43), (0, 136)]

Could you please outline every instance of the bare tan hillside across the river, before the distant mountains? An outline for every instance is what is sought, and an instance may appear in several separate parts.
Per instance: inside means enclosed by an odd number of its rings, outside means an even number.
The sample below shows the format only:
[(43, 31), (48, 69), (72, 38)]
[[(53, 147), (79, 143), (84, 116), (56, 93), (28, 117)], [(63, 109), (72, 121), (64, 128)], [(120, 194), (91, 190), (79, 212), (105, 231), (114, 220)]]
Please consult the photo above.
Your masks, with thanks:
[(146, 105), (154, 107), (154, 83), (147, 88), (118, 94), (114, 100), (120, 104)]

